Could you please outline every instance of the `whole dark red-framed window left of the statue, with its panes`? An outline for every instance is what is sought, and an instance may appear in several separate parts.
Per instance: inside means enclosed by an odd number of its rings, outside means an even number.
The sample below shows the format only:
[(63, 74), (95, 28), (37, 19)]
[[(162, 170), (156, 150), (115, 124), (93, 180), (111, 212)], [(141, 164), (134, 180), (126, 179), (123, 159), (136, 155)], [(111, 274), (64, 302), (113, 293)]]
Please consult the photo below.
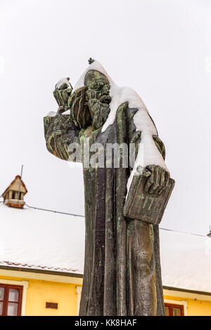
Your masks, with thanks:
[(0, 315), (20, 316), (23, 286), (0, 284)]

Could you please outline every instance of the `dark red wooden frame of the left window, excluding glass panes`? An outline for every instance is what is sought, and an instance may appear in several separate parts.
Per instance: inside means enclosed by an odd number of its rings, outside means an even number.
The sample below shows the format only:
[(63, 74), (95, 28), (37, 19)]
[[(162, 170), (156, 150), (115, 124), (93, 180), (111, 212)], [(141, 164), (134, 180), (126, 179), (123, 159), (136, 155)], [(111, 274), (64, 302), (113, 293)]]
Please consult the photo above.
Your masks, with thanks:
[[(9, 303), (16, 303), (18, 305), (18, 311), (17, 315), (15, 316), (21, 316), (21, 309), (22, 309), (22, 301), (23, 301), (23, 285), (14, 285), (14, 284), (1, 284), (1, 279), (0, 279), (0, 288), (4, 288), (4, 299), (3, 301), (3, 310), (2, 310), (2, 315), (1, 316), (8, 316), (7, 315), (7, 310), (8, 310), (8, 304)], [(9, 291), (10, 289), (18, 289), (18, 301), (9, 301)]]

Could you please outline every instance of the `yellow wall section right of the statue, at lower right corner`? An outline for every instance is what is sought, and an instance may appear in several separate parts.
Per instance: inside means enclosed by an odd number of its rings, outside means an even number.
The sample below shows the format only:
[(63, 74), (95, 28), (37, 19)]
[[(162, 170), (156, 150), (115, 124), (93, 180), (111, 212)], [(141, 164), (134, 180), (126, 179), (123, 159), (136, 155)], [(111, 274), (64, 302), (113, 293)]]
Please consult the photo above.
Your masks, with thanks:
[(185, 293), (183, 297), (164, 296), (164, 298), (174, 301), (186, 301), (188, 303), (188, 316), (211, 316), (211, 301), (203, 301), (200, 298), (185, 298)]

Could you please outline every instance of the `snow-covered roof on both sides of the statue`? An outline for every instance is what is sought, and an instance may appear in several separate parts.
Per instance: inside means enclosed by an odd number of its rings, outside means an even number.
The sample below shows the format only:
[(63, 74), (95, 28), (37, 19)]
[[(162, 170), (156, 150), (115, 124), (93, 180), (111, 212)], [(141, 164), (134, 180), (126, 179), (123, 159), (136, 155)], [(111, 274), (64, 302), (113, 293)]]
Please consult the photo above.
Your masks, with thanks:
[[(84, 218), (0, 204), (0, 227), (0, 265), (83, 274)], [(160, 255), (163, 286), (211, 293), (210, 237), (161, 229)]]

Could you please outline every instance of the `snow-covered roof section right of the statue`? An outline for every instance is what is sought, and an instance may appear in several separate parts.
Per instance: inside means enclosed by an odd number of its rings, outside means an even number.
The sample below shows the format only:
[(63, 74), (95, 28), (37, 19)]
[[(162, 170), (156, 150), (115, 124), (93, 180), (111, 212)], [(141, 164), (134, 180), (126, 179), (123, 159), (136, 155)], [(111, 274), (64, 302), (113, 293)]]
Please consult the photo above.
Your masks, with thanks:
[(162, 284), (211, 293), (211, 238), (160, 230)]

